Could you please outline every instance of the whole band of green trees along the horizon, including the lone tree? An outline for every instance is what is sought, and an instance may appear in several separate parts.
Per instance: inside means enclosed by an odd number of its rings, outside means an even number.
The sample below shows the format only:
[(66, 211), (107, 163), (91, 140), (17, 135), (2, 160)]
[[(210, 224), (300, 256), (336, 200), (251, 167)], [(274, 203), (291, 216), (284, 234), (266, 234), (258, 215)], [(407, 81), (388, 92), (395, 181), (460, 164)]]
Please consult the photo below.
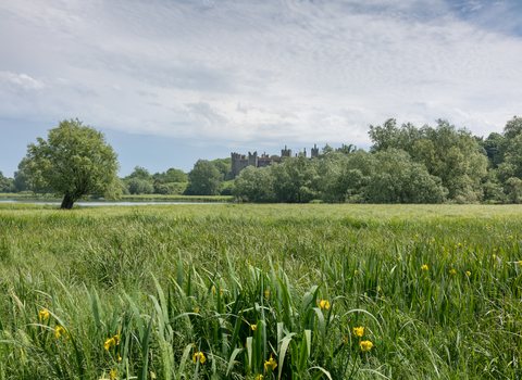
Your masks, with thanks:
[(435, 127), (397, 125), (389, 118), (370, 126), (370, 152), (350, 144), (325, 145), (318, 159), (300, 154), (281, 164), (248, 166), (224, 181), (231, 159), (199, 160), (188, 176), (170, 168), (151, 175), (145, 167), (119, 178), (117, 154), (103, 134), (78, 119), (63, 121), (48, 140), (27, 145), (14, 178), (0, 172), (0, 192), (63, 195), (63, 208), (85, 194), (232, 194), (244, 202), (307, 203), (521, 203), (522, 117), (486, 139), (438, 119)]

